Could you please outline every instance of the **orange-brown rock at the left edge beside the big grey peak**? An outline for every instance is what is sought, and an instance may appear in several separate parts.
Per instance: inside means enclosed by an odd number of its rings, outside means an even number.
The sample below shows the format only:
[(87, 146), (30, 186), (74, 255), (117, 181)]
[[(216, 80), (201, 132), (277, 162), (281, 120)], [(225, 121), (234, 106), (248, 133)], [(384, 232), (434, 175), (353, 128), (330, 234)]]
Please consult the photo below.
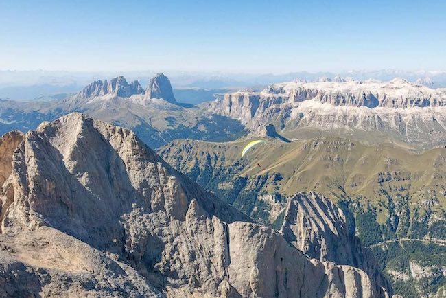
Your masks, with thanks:
[(23, 140), (23, 133), (14, 130), (0, 138), (0, 187), (12, 171), (12, 154)]

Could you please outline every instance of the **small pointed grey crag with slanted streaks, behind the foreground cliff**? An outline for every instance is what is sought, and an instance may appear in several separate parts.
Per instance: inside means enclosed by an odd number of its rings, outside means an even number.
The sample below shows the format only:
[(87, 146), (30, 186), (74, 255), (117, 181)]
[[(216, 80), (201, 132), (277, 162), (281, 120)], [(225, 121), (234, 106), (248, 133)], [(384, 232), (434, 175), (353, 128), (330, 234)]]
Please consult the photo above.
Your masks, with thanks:
[(375, 282), (390, 290), (377, 269), (371, 253), (349, 231), (341, 209), (316, 192), (300, 192), (287, 198), (280, 232), (286, 240), (309, 257), (361, 268)]

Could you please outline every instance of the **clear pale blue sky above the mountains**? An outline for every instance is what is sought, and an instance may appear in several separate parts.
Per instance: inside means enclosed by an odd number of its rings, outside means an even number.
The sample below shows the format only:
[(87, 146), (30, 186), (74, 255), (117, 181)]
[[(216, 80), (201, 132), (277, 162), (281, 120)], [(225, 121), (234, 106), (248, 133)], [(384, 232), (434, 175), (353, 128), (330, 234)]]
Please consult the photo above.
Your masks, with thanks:
[(0, 0), (0, 69), (384, 68), (446, 69), (445, 0)]

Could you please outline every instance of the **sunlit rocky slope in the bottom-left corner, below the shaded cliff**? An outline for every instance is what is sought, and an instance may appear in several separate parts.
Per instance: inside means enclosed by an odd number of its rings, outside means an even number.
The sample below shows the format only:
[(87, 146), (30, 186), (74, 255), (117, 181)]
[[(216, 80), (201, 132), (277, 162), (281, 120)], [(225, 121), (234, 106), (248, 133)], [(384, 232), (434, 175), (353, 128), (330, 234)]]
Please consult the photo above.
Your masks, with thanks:
[(116, 255), (51, 227), (0, 234), (0, 297), (163, 297)]

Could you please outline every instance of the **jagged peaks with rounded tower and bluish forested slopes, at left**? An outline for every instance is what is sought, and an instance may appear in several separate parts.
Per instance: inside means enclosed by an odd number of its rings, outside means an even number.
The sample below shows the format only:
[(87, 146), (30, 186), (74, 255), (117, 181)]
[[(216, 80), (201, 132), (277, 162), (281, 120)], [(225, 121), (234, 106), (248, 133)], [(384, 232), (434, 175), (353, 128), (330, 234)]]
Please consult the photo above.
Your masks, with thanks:
[(106, 122), (131, 128), (152, 148), (173, 139), (224, 141), (244, 135), (236, 119), (177, 102), (169, 78), (158, 73), (147, 89), (123, 76), (96, 80), (75, 95), (52, 102), (0, 100), (0, 133), (35, 129), (72, 112), (82, 112)]

